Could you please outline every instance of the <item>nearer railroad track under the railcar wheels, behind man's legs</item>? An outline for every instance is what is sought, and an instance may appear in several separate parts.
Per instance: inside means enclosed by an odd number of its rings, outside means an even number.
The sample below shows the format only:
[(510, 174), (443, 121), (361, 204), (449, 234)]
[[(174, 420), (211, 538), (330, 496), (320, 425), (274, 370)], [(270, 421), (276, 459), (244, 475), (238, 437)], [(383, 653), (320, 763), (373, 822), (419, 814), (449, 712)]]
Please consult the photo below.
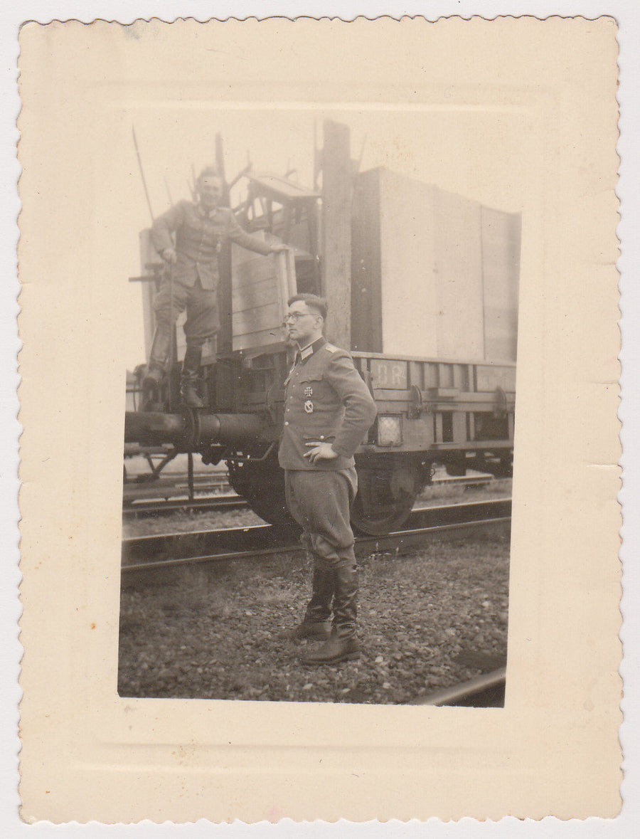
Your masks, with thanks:
[[(508, 529), (511, 499), (414, 509), (402, 530), (356, 539), (356, 554), (397, 553), (425, 539), (460, 539), (491, 529)], [(122, 540), (122, 576), (185, 565), (294, 555), (303, 548), (294, 529), (271, 524), (225, 530), (154, 534)]]

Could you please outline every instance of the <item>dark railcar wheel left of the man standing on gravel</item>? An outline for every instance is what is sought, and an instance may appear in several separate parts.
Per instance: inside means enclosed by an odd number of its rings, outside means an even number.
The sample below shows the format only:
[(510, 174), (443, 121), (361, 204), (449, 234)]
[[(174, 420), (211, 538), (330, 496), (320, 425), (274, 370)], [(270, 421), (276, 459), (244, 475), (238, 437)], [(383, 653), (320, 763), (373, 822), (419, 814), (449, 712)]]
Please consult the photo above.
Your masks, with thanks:
[(266, 461), (228, 462), (229, 483), (256, 515), (277, 527), (297, 527), (289, 515), (284, 471), (275, 457)]

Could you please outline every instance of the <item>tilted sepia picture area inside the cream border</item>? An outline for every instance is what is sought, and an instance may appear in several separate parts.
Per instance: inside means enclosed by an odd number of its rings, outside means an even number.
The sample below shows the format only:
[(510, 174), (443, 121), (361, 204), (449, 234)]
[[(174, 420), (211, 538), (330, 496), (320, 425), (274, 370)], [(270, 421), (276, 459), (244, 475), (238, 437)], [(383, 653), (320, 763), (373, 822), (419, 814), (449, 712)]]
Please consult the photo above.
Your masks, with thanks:
[(125, 157), (119, 695), (502, 706), (524, 196), (448, 112), (170, 114)]

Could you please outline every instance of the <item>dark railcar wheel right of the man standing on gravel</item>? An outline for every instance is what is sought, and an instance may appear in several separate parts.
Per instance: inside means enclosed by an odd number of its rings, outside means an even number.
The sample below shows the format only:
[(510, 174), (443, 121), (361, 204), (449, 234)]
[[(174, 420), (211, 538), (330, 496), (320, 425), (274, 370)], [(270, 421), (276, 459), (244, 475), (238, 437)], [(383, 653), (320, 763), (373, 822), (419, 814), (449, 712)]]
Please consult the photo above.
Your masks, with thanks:
[(358, 492), (351, 524), (367, 536), (383, 536), (401, 527), (424, 486), (428, 470), (415, 461), (356, 463)]

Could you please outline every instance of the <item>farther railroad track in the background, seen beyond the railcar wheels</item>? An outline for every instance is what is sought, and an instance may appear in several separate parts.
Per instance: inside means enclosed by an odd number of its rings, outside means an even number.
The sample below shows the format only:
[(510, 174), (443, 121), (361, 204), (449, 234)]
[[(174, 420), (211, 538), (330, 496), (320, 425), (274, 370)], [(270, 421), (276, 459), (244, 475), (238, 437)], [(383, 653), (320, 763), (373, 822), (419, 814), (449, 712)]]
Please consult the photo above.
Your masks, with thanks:
[[(446, 476), (434, 477), (431, 485), (481, 488), (486, 487), (493, 480), (495, 478), (488, 475)], [(233, 493), (224, 474), (216, 476), (213, 482), (209, 476), (197, 476), (194, 488), (199, 498), (189, 498), (187, 476), (180, 472), (172, 477), (163, 477), (153, 481), (128, 482), (122, 498), (122, 518), (143, 519), (186, 510), (205, 513), (218, 510), (240, 510), (248, 507), (243, 498)]]

